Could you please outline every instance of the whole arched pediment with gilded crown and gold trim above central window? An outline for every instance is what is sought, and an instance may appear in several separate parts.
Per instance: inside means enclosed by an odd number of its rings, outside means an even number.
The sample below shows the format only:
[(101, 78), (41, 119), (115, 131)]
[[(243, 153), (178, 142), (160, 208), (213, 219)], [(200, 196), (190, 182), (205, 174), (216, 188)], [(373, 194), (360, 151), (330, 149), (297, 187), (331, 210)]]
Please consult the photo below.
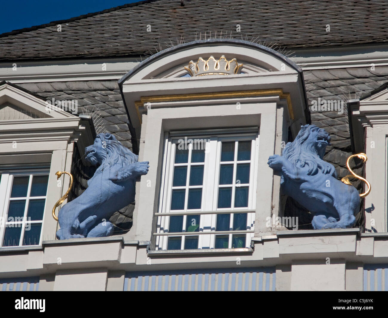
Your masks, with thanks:
[[(183, 101), (194, 105), (198, 100), (232, 98), (240, 103), (248, 97), (272, 96), (286, 105), (293, 132), (309, 122), (302, 70), (279, 52), (248, 41), (210, 39), (177, 45), (138, 64), (118, 83), (135, 136), (140, 135), (150, 104), (152, 109), (179, 107)], [(180, 104), (173, 103), (178, 100)]]

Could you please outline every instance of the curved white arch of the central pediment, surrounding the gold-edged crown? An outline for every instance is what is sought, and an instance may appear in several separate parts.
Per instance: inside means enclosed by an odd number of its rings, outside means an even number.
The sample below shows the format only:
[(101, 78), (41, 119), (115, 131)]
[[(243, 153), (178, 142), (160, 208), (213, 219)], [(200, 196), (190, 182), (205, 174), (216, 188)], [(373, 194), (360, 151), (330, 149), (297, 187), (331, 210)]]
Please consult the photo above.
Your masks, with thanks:
[(184, 43), (154, 54), (129, 71), (119, 83), (155, 78), (181, 78), (189, 74), (185, 68), (189, 66), (190, 61), (196, 62), (200, 57), (207, 60), (211, 56), (216, 60), (221, 56), (225, 56), (227, 60), (236, 59), (243, 65), (242, 73), (230, 76), (300, 71), (287, 57), (263, 45), (242, 40), (210, 39)]

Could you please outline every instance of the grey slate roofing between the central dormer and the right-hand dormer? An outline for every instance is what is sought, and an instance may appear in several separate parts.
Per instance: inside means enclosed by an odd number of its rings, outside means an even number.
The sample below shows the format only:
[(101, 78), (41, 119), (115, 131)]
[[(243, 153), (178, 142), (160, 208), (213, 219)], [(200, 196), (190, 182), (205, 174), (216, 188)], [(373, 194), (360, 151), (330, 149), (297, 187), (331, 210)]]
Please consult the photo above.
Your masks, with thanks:
[[(318, 97), (344, 101), (342, 115), (336, 111), (312, 111), (310, 107), (312, 124), (331, 134), (332, 146), (327, 147), (324, 160), (333, 163), (339, 177), (344, 177), (348, 174), (346, 160), (352, 154), (346, 101), (362, 98), (387, 83), (388, 66), (376, 66), (373, 71), (370, 67), (313, 70), (305, 71), (304, 76), (310, 105)], [(355, 169), (356, 174), (362, 175), (362, 173), (357, 173), (361, 172), (360, 169), (362, 168)], [(360, 188), (361, 184), (361, 181), (355, 182), (357, 188)]]

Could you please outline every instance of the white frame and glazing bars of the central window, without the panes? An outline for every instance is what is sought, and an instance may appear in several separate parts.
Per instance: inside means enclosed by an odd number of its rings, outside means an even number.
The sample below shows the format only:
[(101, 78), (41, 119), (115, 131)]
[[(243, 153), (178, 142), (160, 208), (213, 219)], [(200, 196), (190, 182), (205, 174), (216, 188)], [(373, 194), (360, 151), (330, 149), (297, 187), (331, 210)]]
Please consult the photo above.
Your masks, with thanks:
[[(213, 133), (211, 133), (213, 132)], [(258, 127), (245, 128), (245, 129), (228, 129), (228, 130), (212, 130), (203, 132), (175, 132), (166, 134), (165, 137), (165, 153), (164, 153), (164, 166), (162, 173), (161, 194), (159, 200), (159, 212), (157, 215), (157, 233), (156, 235), (156, 250), (167, 250), (168, 237), (182, 237), (181, 250), (184, 249), (185, 236), (198, 236), (198, 249), (203, 248), (215, 248), (216, 235), (229, 235), (229, 246), (232, 248), (232, 236), (234, 234), (246, 235), (245, 247), (250, 247), (251, 238), (253, 237), (253, 227), (255, 222), (255, 209), (256, 209), (256, 180), (258, 173), (258, 149), (259, 149), (259, 130)], [(207, 148), (205, 150), (204, 163), (191, 163), (192, 149), (189, 147), (189, 159), (188, 163), (175, 164), (175, 148), (179, 139), (206, 139)], [(237, 172), (237, 141), (251, 140), (251, 159), (248, 161), (239, 161), (238, 163), (250, 163), (249, 171), (249, 184), (237, 184), (236, 185), (236, 172)], [(234, 161), (230, 162), (234, 165), (234, 176), (232, 184), (232, 206), (231, 208), (218, 208), (218, 185), (220, 176), (220, 159), (221, 159), (221, 145), (222, 142), (235, 141), (235, 154)], [(192, 144), (191, 144), (192, 146)], [(224, 163), (224, 162), (223, 162)], [(180, 187), (186, 189), (185, 195), (185, 209), (184, 210), (170, 210), (171, 207), (171, 195), (172, 195), (172, 182), (174, 167), (192, 166), (192, 165), (204, 165), (204, 179), (202, 186), (188, 186), (189, 178), (186, 178), (186, 186)], [(189, 176), (189, 169), (187, 169), (187, 176)], [(206, 177), (207, 178), (206, 178)], [(248, 192), (248, 207), (234, 207), (234, 193), (236, 187), (249, 186)], [(221, 185), (221, 187), (230, 187), (230, 185)], [(174, 187), (174, 189), (177, 187)], [(202, 188), (202, 202), (201, 209), (187, 210), (188, 201), (188, 189), (189, 188)], [(230, 228), (233, 228), (233, 215), (234, 213), (247, 213), (247, 230), (244, 231), (215, 231), (217, 224), (217, 214), (230, 213)], [(166, 214), (164, 216), (163, 214)], [(170, 223), (170, 216), (172, 215), (184, 215), (182, 232), (177, 235), (169, 235), (168, 227)], [(186, 221), (189, 215), (200, 215), (199, 232), (190, 232), (186, 234)], [(203, 232), (211, 232), (211, 234), (201, 234)]]

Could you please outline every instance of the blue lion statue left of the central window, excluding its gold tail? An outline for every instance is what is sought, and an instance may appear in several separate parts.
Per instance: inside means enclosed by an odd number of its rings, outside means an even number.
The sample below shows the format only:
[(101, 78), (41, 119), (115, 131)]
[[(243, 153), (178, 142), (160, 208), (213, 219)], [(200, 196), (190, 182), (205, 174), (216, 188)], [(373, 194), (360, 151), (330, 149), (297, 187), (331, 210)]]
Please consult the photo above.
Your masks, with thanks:
[(113, 224), (107, 220), (135, 201), (136, 179), (149, 168), (149, 162), (138, 162), (138, 156), (109, 133), (98, 134), (85, 155), (99, 167), (88, 180), (88, 188), (59, 210), (59, 240), (111, 235)]

